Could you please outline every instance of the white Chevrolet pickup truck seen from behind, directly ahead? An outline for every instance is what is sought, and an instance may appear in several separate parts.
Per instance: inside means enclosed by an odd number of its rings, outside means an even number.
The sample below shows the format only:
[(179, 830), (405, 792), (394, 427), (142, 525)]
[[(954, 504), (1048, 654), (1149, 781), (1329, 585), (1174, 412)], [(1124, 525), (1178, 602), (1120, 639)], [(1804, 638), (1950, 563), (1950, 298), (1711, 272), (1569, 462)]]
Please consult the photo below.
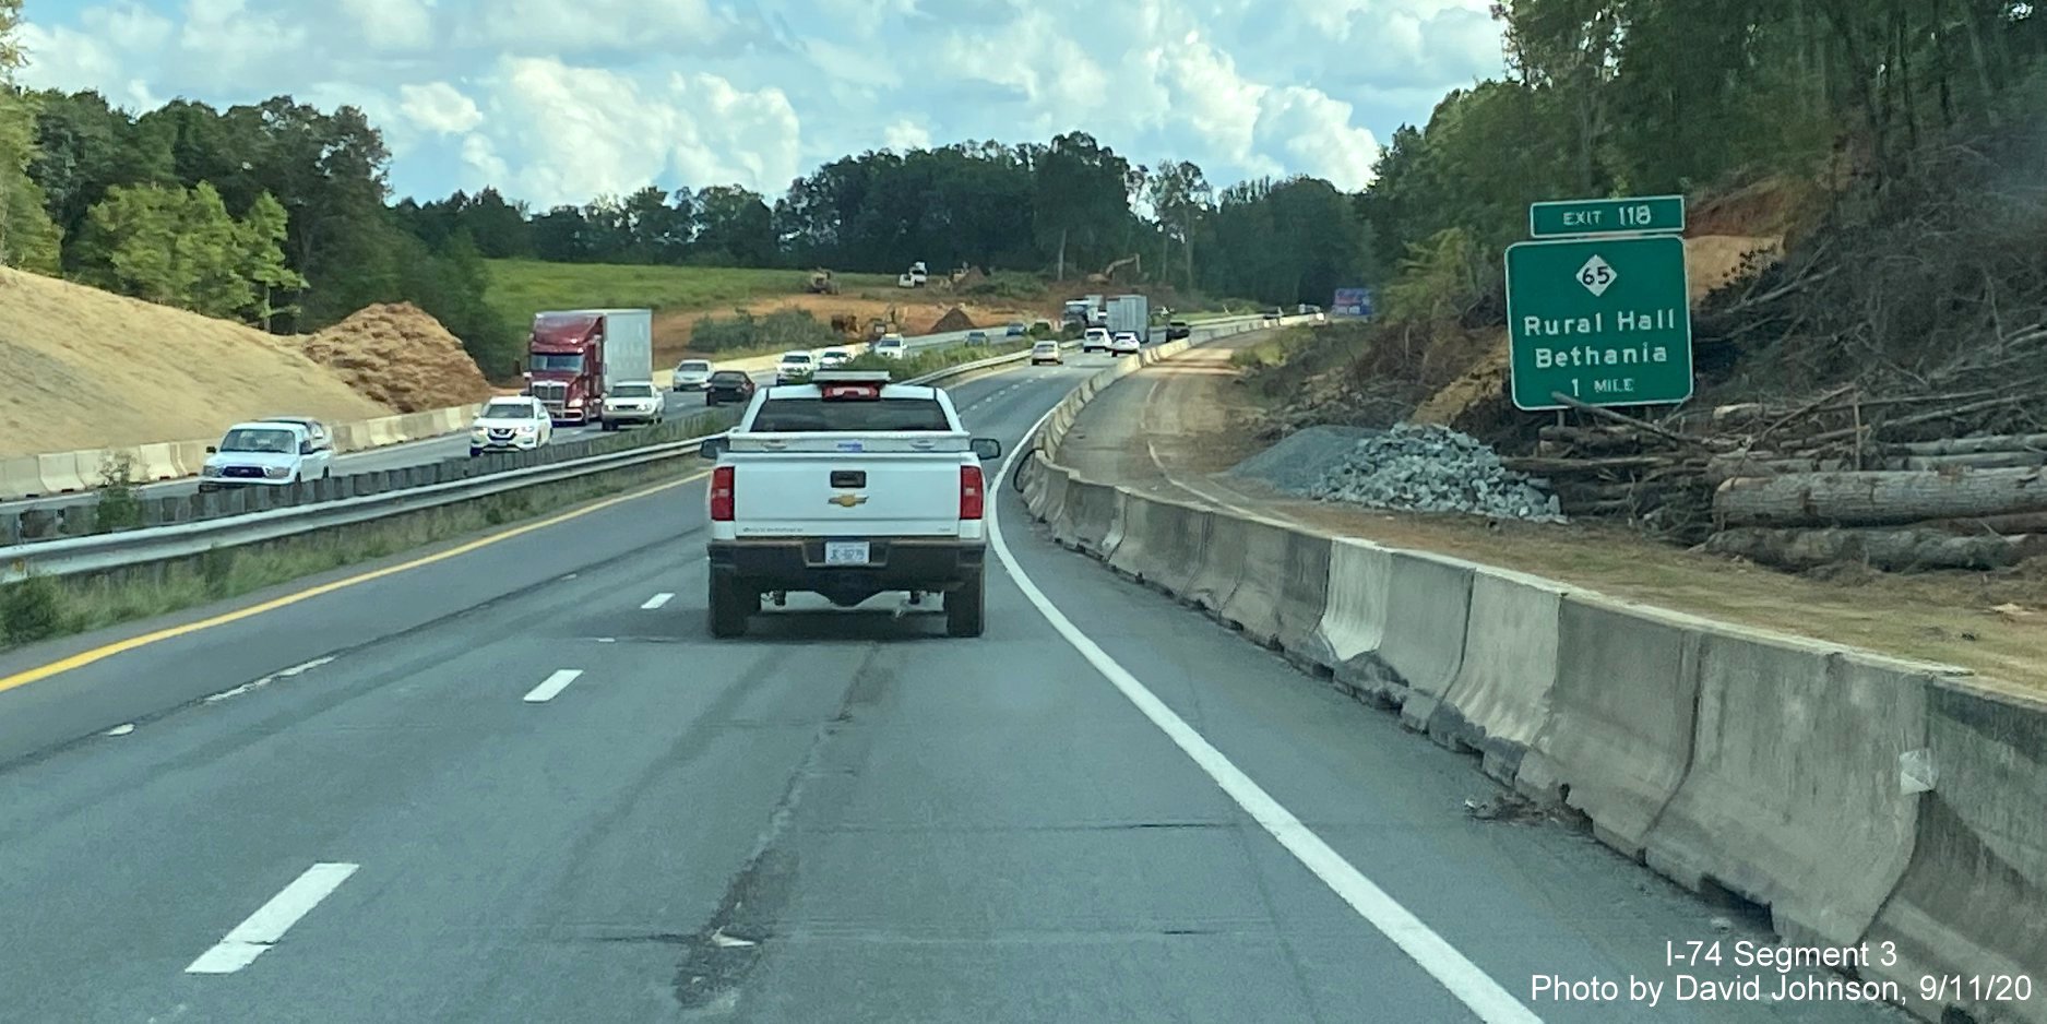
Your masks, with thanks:
[(745, 635), (761, 596), (852, 608), (882, 592), (944, 594), (946, 633), (978, 637), (987, 594), (985, 459), (938, 387), (886, 371), (817, 371), (764, 387), (710, 471), (710, 635)]

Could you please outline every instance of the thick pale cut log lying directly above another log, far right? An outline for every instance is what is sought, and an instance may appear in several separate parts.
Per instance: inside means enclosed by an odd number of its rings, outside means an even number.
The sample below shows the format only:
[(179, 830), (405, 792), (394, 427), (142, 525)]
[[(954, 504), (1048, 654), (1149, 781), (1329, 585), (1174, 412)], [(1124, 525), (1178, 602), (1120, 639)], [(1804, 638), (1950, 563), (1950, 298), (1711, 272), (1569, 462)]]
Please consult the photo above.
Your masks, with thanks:
[(2047, 512), (2047, 469), (1785, 473), (1713, 492), (1728, 526), (1904, 526), (1930, 518)]

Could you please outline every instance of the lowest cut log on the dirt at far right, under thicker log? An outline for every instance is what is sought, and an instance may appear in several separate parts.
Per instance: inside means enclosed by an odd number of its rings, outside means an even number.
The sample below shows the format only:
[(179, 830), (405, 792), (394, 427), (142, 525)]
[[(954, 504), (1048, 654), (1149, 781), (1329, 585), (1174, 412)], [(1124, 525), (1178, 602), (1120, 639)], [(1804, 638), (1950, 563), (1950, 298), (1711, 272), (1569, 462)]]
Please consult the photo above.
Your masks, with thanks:
[(2047, 537), (1955, 537), (1939, 530), (1722, 530), (1713, 555), (1738, 555), (1781, 569), (1869, 565), (1883, 571), (2004, 569), (2047, 553)]

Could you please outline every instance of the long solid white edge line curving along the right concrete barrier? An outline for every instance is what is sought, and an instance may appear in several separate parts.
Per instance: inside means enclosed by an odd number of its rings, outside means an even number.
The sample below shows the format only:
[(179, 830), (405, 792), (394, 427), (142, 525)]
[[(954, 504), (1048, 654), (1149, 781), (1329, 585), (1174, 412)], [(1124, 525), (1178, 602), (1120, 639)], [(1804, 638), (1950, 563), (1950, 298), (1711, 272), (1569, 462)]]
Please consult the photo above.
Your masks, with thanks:
[[(1052, 414), (1046, 412), (1032, 424), (1026, 432), (1026, 440), (1050, 420)], [(1003, 459), (1003, 469), (995, 479), (1009, 479), (1015, 459), (1026, 451), (1017, 444)], [(1421, 918), (1414, 918), (1406, 907), (1402, 907), (1394, 897), (1386, 895), (1371, 879), (1361, 870), (1343, 860), (1335, 848), (1331, 848), (1320, 836), (1304, 825), (1292, 811), (1279, 805), (1269, 793), (1265, 793), (1257, 782), (1251, 780), (1240, 768), (1230, 764), (1220, 750), (1216, 750), (1208, 739), (1202, 737), (1185, 719), (1173, 713), (1165, 700), (1159, 700), (1136, 676), (1132, 676), (1124, 666), (1120, 666), (1107, 651), (1103, 651), (1095, 641), (1087, 637), (1079, 627), (1073, 625), (1050, 598), (1038, 590), (1038, 584), (1009, 557), (1009, 545), (1003, 541), (1001, 522), (995, 512), (997, 504), (989, 504), (989, 545), (995, 547), (995, 557), (1001, 559), (1003, 569), (1015, 580), (1024, 596), (1038, 608), (1038, 614), (1058, 631), (1075, 651), (1081, 653), (1103, 678), (1109, 680), (1122, 694), (1136, 705), (1136, 709), (1150, 719), (1169, 739), (1173, 739), (1179, 750), (1183, 750), (1202, 772), (1212, 778), (1222, 793), (1226, 793), (1238, 807), (1245, 809), (1259, 825), (1279, 840), (1296, 860), (1302, 862), (1316, 879), (1322, 881), (1331, 891), (1337, 893), (1345, 903), (1351, 905), (1371, 928), (1390, 938), (1400, 952), (1406, 952), (1423, 971), (1437, 979), (1451, 995), (1468, 1006), (1480, 1020), (1488, 1024), (1541, 1024), (1529, 1008), (1521, 1006), (1498, 981), (1492, 981), (1478, 965), (1457, 952), (1443, 936), (1435, 934)]]

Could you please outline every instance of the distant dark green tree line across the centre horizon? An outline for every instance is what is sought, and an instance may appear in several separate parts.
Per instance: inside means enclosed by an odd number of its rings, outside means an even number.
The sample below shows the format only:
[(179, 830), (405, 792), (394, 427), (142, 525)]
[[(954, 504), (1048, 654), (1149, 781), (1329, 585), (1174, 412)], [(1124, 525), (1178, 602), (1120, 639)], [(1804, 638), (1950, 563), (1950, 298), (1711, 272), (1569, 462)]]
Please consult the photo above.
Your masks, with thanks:
[(536, 211), (483, 188), (395, 211), (422, 240), (467, 233), (487, 258), (878, 274), (923, 262), (1058, 281), (1116, 264), (1118, 281), (1267, 303), (1326, 303), (1369, 274), (1371, 250), (1355, 197), (1326, 180), (1218, 190), (1191, 162), (1132, 164), (1081, 131), (845, 156), (776, 199), (649, 184)]

